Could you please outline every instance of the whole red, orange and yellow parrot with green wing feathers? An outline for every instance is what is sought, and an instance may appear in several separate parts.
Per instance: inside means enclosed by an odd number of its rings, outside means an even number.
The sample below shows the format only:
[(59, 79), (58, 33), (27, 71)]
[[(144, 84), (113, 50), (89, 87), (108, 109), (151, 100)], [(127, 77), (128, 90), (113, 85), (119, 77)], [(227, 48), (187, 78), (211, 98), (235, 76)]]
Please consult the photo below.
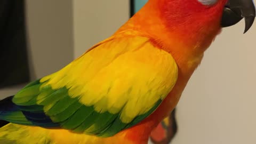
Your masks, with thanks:
[(242, 19), (246, 33), (252, 0), (149, 0), (113, 35), (1, 100), (0, 143), (148, 143), (205, 50)]

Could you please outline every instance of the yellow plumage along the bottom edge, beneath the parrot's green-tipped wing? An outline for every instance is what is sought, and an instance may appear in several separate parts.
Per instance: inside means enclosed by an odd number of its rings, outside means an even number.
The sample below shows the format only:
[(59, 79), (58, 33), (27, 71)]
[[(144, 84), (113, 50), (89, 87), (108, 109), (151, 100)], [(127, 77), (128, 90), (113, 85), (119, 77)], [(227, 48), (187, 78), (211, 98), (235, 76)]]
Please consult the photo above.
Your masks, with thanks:
[[(0, 128), (0, 144), (131, 144), (120, 133), (110, 138), (99, 138), (93, 135), (72, 133), (62, 129), (44, 129), (38, 126), (26, 126), (9, 123)], [(139, 142), (142, 144), (141, 142)], [(136, 142), (136, 144), (138, 144)], [(144, 144), (144, 143), (143, 143)]]

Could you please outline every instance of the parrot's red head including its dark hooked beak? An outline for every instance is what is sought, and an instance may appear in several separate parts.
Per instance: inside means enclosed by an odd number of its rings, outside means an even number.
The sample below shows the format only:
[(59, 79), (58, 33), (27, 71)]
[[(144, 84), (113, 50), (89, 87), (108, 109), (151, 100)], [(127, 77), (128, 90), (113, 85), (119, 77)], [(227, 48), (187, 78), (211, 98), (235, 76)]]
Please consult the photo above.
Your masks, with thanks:
[[(245, 30), (255, 18), (253, 0), (150, 0), (158, 1), (162, 17), (170, 27), (229, 27), (245, 19)], [(178, 27), (179, 27), (178, 25)], [(191, 27), (192, 26), (192, 27)]]

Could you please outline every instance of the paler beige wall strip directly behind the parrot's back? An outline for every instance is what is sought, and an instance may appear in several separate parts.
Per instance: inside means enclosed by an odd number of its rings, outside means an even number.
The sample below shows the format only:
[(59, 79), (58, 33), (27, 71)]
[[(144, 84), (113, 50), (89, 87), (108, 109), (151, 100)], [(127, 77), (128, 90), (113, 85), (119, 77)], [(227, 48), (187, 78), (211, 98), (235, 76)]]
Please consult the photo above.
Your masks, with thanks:
[(130, 0), (73, 1), (75, 58), (129, 19), (129, 3)]

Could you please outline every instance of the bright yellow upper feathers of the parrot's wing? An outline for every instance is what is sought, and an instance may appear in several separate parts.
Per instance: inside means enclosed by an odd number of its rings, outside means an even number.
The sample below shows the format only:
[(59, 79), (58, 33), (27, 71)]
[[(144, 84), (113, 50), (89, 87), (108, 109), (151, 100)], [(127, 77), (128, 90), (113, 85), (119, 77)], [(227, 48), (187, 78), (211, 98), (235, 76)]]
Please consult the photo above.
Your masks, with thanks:
[(116, 36), (101, 42), (41, 82), (66, 86), (71, 98), (103, 113), (120, 113), (123, 123), (146, 114), (172, 90), (178, 68), (172, 55), (147, 37)]

